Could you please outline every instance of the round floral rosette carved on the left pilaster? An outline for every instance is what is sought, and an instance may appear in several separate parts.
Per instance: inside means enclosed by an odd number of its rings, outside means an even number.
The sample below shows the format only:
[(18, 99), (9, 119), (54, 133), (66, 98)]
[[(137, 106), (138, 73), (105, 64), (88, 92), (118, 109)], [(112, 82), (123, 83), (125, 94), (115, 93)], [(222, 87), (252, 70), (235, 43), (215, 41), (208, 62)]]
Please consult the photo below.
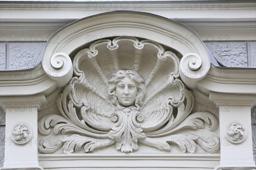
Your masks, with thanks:
[(13, 125), (11, 130), (12, 141), (19, 145), (24, 145), (29, 142), (32, 137), (32, 128), (24, 122), (19, 122)]

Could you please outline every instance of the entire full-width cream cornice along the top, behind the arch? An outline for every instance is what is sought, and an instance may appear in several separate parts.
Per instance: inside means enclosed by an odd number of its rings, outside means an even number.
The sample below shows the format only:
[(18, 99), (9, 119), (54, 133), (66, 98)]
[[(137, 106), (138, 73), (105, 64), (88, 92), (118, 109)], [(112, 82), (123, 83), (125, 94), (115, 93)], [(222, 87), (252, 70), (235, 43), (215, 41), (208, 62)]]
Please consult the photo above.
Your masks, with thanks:
[[(26, 42), (47, 41), (51, 34), (68, 23), (116, 10), (148, 12), (177, 20), (195, 30), (204, 41), (255, 41), (256, 39), (256, 5), (253, 1), (101, 1), (99, 4), (93, 1), (49, 1), (26, 3), (28, 3), (26, 7), (23, 7), (25, 6), (24, 2), (1, 2), (0, 41), (19, 41), (18, 37), (22, 35), (26, 37)], [(112, 8), (108, 8), (108, 3), (112, 4)], [(195, 5), (197, 8), (194, 8)], [(34, 37), (29, 39), (31, 35)], [(41, 37), (36, 39), (37, 35), (41, 35), (43, 39)]]

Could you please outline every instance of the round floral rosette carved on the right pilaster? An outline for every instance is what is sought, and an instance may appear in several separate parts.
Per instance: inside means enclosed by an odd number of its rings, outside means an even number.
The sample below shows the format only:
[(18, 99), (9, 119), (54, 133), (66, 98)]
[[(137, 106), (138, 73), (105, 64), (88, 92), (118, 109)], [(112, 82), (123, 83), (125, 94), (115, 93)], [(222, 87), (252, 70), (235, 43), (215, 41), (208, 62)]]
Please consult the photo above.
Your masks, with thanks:
[(245, 127), (240, 122), (230, 122), (227, 125), (225, 132), (227, 139), (234, 144), (239, 144), (246, 138)]

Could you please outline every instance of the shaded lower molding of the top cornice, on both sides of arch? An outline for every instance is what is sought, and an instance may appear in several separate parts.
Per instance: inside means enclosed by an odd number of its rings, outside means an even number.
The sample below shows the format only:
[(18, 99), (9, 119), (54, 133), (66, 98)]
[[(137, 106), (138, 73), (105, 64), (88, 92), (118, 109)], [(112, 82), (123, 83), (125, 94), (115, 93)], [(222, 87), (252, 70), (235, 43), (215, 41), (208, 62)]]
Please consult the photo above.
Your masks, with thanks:
[[(84, 17), (84, 16), (81, 16)], [(78, 18), (79, 19), (79, 18)], [(190, 18), (190, 22), (183, 21), (178, 18), (171, 18), (176, 20), (189, 28), (193, 29), (204, 42), (230, 42), (230, 41), (255, 41), (255, 22), (241, 22), (241, 21), (198, 21)], [(58, 29), (74, 22), (74, 19), (52, 19), (55, 22), (47, 21), (43, 23), (26, 21), (26, 22), (2, 22), (0, 42), (47, 42), (58, 43), (58, 37), (49, 37)], [(192, 22), (192, 20), (194, 20)], [(209, 20), (207, 20), (209, 21)], [(29, 30), (29, 31), (28, 31)], [(218, 30), (218, 31), (216, 31)], [(240, 33), (240, 34), (239, 34)], [(254, 36), (252, 36), (254, 35)]]

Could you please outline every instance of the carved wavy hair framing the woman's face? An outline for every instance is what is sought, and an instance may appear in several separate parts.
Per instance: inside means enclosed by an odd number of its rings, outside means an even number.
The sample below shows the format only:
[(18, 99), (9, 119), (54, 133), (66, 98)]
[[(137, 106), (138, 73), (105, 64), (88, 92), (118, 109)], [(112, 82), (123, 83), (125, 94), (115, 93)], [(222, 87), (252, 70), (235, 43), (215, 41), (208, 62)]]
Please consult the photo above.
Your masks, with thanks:
[(108, 96), (111, 102), (116, 105), (118, 103), (116, 96), (116, 86), (125, 77), (131, 79), (132, 82), (137, 86), (137, 95), (135, 99), (135, 106), (137, 108), (143, 107), (143, 98), (146, 93), (146, 88), (144, 85), (144, 78), (133, 70), (119, 70), (116, 74), (113, 74), (112, 78), (109, 80), (108, 86)]

